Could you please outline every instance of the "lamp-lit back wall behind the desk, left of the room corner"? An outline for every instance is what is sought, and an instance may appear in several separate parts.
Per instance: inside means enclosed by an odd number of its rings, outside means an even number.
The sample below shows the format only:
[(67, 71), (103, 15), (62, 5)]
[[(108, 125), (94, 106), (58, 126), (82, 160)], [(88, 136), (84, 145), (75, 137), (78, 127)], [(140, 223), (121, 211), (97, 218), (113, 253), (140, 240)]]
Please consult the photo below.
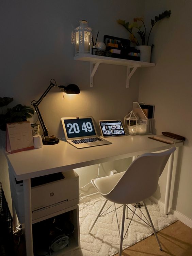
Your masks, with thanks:
[[(77, 84), (81, 90), (79, 95), (65, 95), (62, 100), (63, 94), (53, 88), (39, 106), (49, 134), (59, 138), (64, 137), (61, 117), (92, 115), (97, 129), (99, 119), (123, 119), (131, 111), (132, 101), (138, 100), (139, 76), (136, 73), (130, 88), (126, 89), (126, 67), (100, 64), (94, 76), (94, 87), (90, 87), (90, 65), (73, 60), (75, 49), (71, 39), (81, 19), (89, 21), (94, 40), (97, 31), (98, 41), (103, 41), (105, 34), (128, 38), (127, 31), (116, 20), (132, 20), (138, 14), (143, 15), (143, 10), (144, 2), (139, 0), (118, 3), (102, 0), (1, 1), (0, 97), (13, 97), (10, 106), (18, 103), (30, 106), (30, 102), (38, 100), (47, 89), (51, 78), (58, 85)], [(5, 158), (1, 157), (1, 163), (0, 180), (11, 208)], [(116, 168), (115, 163), (105, 164), (105, 167), (104, 172)], [(92, 178), (95, 177), (97, 166), (84, 172), (79, 170), (82, 173), (80, 186), (90, 181), (90, 170)]]

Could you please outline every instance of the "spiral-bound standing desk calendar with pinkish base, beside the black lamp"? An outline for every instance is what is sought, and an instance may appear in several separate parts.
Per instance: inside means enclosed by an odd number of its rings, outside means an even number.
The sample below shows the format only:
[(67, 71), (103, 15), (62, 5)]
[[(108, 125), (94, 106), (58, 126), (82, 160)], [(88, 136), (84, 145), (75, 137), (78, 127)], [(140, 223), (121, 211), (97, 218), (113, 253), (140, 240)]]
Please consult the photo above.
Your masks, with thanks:
[(16, 153), (19, 151), (32, 149), (33, 135), (29, 121), (8, 123), (6, 125), (6, 151)]

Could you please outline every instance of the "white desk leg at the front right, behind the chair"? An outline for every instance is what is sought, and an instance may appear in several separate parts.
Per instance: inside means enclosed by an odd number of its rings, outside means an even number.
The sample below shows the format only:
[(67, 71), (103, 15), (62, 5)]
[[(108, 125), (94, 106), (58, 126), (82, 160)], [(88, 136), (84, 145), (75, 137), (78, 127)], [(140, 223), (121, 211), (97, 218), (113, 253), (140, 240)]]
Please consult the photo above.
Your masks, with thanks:
[(170, 199), (171, 178), (172, 178), (172, 171), (173, 171), (173, 160), (174, 160), (174, 152), (171, 154), (169, 161), (168, 161), (164, 214), (168, 214), (168, 212), (169, 212), (169, 199)]

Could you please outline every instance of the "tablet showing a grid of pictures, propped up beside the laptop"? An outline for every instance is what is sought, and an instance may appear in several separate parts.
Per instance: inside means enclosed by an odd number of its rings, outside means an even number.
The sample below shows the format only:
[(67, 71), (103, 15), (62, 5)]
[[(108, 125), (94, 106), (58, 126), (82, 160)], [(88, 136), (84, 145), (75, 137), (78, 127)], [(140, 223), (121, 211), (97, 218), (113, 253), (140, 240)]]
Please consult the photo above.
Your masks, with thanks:
[(99, 127), (103, 137), (126, 135), (121, 120), (99, 120)]

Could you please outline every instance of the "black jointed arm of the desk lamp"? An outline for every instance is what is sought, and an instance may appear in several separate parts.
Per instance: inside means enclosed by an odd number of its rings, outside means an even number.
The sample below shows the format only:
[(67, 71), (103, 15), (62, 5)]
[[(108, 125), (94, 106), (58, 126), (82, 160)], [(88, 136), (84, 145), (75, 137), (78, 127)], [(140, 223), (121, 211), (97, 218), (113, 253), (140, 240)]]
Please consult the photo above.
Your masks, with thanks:
[(46, 91), (43, 93), (43, 95), (37, 101), (35, 101), (35, 100), (31, 101), (31, 105), (34, 107), (35, 111), (37, 112), (37, 115), (38, 115), (38, 118), (39, 118), (39, 122), (40, 122), (40, 124), (42, 126), (42, 129), (43, 129), (44, 137), (45, 136), (49, 136), (49, 135), (48, 135), (47, 127), (45, 126), (43, 118), (42, 118), (42, 115), (41, 115), (41, 113), (39, 111), (38, 105), (45, 98), (45, 96), (48, 94), (48, 92), (51, 90), (52, 87), (57, 87), (57, 85), (55, 85), (54, 83), (50, 82), (50, 85), (48, 86)]

